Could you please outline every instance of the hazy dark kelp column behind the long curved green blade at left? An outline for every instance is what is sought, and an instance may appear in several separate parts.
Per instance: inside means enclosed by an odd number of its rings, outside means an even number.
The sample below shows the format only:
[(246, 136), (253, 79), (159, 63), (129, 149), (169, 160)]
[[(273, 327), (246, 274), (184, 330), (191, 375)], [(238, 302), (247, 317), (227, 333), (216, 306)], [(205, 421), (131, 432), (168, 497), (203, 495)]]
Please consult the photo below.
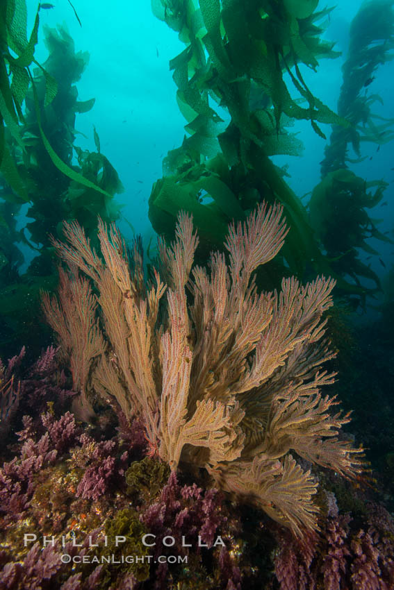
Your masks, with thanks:
[[(88, 51), (75, 51), (74, 40), (63, 26), (58, 30), (44, 27), (44, 42), (49, 51), (44, 71), (58, 81), (58, 90), (51, 103), (45, 105), (45, 76), (40, 68), (35, 69), (33, 80), (42, 130), (58, 158), (86, 182), (81, 184), (78, 178), (66, 176), (52, 161), (40, 137), (33, 92), (28, 92), (22, 129), (27, 144), (26, 156), (20, 171), (26, 184), (33, 180), (34, 189), (29, 194), (33, 204), (28, 217), (34, 221), (26, 227), (35, 244), (41, 242), (49, 246), (49, 234), (57, 234), (58, 224), (63, 219), (78, 219), (95, 239), (97, 215), (106, 221), (117, 219), (119, 206), (113, 202), (113, 195), (123, 192), (124, 188), (117, 172), (101, 153), (98, 139), (96, 152), (83, 151), (75, 145), (76, 115), (88, 112), (95, 104), (95, 99), (79, 100), (76, 88), (88, 65)], [(78, 167), (73, 163), (74, 151)]]

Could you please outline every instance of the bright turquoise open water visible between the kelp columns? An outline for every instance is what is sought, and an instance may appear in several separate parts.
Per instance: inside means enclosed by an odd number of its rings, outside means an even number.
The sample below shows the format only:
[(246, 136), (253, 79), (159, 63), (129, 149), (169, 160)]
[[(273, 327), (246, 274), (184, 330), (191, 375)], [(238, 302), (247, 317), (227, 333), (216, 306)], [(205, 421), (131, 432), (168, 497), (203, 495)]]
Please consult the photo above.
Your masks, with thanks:
[[(35, 3), (27, 3), (27, 6), (32, 24)], [(149, 242), (151, 224), (147, 217), (147, 202), (151, 185), (162, 176), (162, 162), (167, 151), (179, 146), (185, 134), (185, 121), (177, 106), (176, 86), (168, 67), (170, 60), (183, 51), (184, 46), (174, 31), (154, 17), (149, 3), (129, 7), (119, 2), (108, 10), (105, 4), (87, 1), (78, 8), (82, 28), (67, 2), (56, 3), (53, 10), (41, 11), (35, 56), (39, 62), (44, 62), (47, 57), (43, 42), (44, 24), (56, 27), (65, 23), (76, 51), (90, 53), (78, 91), (81, 100), (95, 98), (96, 101), (90, 112), (77, 115), (76, 128), (88, 138), (79, 135), (78, 145), (83, 149), (95, 149), (92, 132), (95, 125), (101, 145), (124, 185), (124, 194), (117, 197), (124, 204), (122, 214), (133, 224), (136, 233), (141, 233)], [(319, 5), (319, 8), (323, 7)], [(341, 2), (325, 23), (327, 28), (322, 37), (336, 42), (335, 49), (342, 52), (341, 56), (335, 60), (322, 60), (318, 74), (307, 68), (303, 71), (313, 94), (332, 110), (336, 110), (343, 81), (341, 67), (346, 58), (350, 23), (358, 9), (359, 3)], [(392, 68), (390, 61), (379, 65), (379, 75), (368, 88), (370, 94), (381, 96), (383, 103), (379, 103), (375, 110), (382, 117), (393, 117)], [(297, 121), (295, 131), (302, 133), (302, 158), (277, 156), (274, 162), (288, 166), (288, 183), (301, 197), (311, 192), (320, 180), (320, 162), (326, 142), (313, 133), (306, 121)], [(329, 127), (324, 131), (329, 135)], [(394, 178), (391, 144), (382, 145), (379, 155), (376, 154), (377, 146), (366, 144), (364, 147), (363, 155), (368, 153), (372, 160), (354, 164), (352, 170), (367, 179), (384, 178), (391, 183)], [(386, 196), (389, 192), (390, 187)], [(389, 226), (393, 206), (388, 199), (381, 226), (384, 231), (393, 229)], [(133, 237), (131, 228), (122, 221), (120, 228), (125, 237)], [(385, 251), (384, 244), (379, 247)], [(387, 254), (392, 254), (393, 249), (387, 248)], [(379, 261), (372, 260), (372, 264), (382, 276), (384, 269)]]

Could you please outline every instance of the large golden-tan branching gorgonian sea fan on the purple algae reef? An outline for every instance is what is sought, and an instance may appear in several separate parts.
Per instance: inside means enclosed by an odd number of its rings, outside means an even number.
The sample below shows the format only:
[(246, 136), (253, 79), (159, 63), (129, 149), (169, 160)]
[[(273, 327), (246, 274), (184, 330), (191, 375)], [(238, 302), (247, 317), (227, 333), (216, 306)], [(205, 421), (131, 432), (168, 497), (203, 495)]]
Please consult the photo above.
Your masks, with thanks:
[[(143, 280), (137, 244), (129, 265), (115, 226), (108, 232), (99, 221), (102, 258), (79, 224), (64, 230), (68, 243), (53, 239), (69, 267), (61, 273), (61, 305), (44, 294), (43, 307), (74, 371), (83, 366), (85, 395), (95, 391), (140, 419), (151, 455), (172, 471), (182, 462), (205, 467), (222, 489), (293, 532), (315, 528), (317, 482), (290, 451), (354, 477), (361, 449), (338, 439), (349, 416), (331, 415), (335, 398), (320, 394), (334, 380), (321, 369), (333, 357), (322, 314), (334, 281), (320, 277), (302, 287), (288, 278), (280, 293), (256, 289), (254, 271), (284, 244), (281, 205), (259, 205), (244, 224), (231, 224), (229, 264), (212, 253), (210, 273), (192, 269), (198, 238), (182, 212), (175, 242), (159, 244), (166, 283), (155, 270), (153, 285)], [(76, 290), (79, 305), (67, 295)], [(72, 330), (80, 337), (70, 348), (63, 335)]]

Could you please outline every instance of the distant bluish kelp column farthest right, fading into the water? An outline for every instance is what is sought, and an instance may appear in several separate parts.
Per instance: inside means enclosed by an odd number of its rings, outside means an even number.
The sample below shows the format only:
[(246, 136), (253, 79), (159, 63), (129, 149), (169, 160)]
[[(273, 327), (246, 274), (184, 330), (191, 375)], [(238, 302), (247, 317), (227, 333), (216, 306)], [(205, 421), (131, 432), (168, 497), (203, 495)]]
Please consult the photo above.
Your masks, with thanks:
[[(394, 56), (393, 0), (363, 2), (350, 26), (350, 45), (343, 65), (343, 84), (338, 99), (338, 113), (350, 121), (347, 128), (334, 125), (322, 160), (322, 182), (315, 187), (309, 203), (310, 219), (322, 246), (339, 276), (352, 276), (361, 287), (360, 278), (372, 280), (381, 289), (377, 273), (361, 260), (359, 250), (378, 255), (366, 239), (374, 237), (393, 243), (377, 229), (377, 221), (368, 210), (381, 203), (388, 183), (356, 176), (348, 166), (366, 160), (361, 143), (388, 143), (394, 137), (394, 119), (371, 111), (383, 105), (381, 96), (370, 94), (379, 66)], [(350, 157), (350, 146), (356, 159)], [(375, 190), (371, 191), (372, 187)]]

